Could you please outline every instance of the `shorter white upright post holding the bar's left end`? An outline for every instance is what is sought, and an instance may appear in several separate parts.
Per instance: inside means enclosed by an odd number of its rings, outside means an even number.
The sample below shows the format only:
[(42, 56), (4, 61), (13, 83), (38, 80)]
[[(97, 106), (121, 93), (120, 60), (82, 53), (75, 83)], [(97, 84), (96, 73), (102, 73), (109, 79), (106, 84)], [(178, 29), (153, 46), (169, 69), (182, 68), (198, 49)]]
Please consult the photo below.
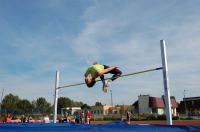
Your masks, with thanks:
[(59, 88), (59, 72), (56, 71), (53, 123), (56, 123), (57, 120), (58, 88)]

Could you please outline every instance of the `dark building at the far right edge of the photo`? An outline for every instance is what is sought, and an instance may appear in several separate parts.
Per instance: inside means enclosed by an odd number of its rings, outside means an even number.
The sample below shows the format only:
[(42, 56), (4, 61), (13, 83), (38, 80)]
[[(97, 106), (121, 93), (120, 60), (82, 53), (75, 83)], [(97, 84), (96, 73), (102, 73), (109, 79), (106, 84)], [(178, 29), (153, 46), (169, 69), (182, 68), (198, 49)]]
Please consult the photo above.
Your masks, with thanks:
[(187, 116), (200, 116), (200, 96), (183, 98), (180, 102), (178, 111)]

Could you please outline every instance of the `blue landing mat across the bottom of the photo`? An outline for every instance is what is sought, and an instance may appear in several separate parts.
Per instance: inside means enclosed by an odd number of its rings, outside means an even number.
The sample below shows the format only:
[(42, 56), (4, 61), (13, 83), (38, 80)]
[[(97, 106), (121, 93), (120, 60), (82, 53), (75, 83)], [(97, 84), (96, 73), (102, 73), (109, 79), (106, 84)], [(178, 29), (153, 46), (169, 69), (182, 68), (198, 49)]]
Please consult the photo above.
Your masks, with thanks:
[(0, 124), (0, 132), (200, 132), (200, 126), (134, 125), (124, 122), (108, 124)]

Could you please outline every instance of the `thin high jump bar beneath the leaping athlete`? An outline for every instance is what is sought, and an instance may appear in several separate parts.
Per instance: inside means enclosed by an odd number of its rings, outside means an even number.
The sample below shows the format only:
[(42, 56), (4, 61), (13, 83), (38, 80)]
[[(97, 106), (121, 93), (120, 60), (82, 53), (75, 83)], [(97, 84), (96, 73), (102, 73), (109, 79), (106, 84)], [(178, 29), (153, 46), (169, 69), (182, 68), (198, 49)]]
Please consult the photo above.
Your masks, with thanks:
[[(138, 71), (138, 72), (133, 72), (133, 73), (122, 74), (122, 75), (117, 76), (117, 77), (114, 77), (114, 78), (127, 77), (127, 76), (132, 76), (132, 75), (136, 75), (136, 74), (142, 74), (142, 73), (145, 73), (145, 72), (151, 72), (151, 71), (156, 71), (156, 70), (161, 70), (161, 69), (162, 69), (162, 67), (150, 68), (150, 69), (146, 69), (146, 70), (143, 70), (143, 71)], [(108, 79), (113, 79), (113, 77), (106, 78), (105, 80), (108, 80)], [(96, 82), (99, 82), (99, 81), (101, 81), (101, 79), (96, 80)], [(67, 88), (67, 87), (74, 87), (74, 86), (79, 86), (79, 85), (84, 85), (84, 84), (85, 84), (85, 82), (82, 82), (82, 83), (74, 83), (74, 84), (70, 84), (70, 85), (65, 85), (65, 86), (57, 87), (57, 89)]]

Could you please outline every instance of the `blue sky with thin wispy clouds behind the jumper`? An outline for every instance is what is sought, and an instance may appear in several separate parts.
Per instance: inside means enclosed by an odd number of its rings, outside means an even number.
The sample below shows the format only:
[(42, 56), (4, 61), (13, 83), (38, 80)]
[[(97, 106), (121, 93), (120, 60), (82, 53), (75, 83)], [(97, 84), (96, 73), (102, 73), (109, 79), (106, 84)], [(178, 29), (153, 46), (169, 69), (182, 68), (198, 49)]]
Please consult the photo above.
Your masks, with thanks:
[[(0, 90), (53, 103), (55, 72), (60, 85), (83, 81), (97, 61), (123, 73), (161, 66), (166, 41), (171, 95), (200, 93), (199, 0), (0, 0)], [(121, 78), (110, 86), (114, 104), (140, 94), (161, 96), (162, 72)], [(110, 104), (101, 84), (62, 89), (59, 96)]]

